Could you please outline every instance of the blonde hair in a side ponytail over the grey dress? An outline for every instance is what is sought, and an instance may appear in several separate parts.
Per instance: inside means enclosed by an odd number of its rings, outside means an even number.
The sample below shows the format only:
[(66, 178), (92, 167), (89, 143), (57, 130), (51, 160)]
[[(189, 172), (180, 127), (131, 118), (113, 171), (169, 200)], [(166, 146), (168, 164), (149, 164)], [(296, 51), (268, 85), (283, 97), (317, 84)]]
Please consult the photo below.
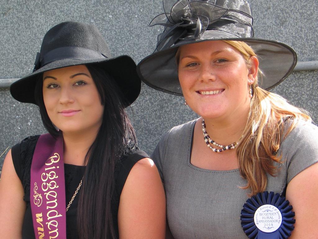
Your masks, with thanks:
[[(244, 57), (247, 66), (251, 66), (253, 49), (243, 41), (223, 40), (236, 48)], [(261, 71), (259, 70), (259, 76)], [(275, 176), (277, 168), (274, 162), (284, 159), (277, 155), (280, 143), (294, 129), (300, 120), (311, 122), (303, 109), (295, 107), (283, 97), (257, 86), (258, 79), (252, 84), (254, 94), (251, 99), (248, 121), (237, 149), (239, 171), (247, 180), (243, 189), (251, 190), (250, 196), (266, 190), (267, 173)], [(288, 124), (285, 121), (289, 120)], [(286, 128), (284, 128), (286, 127)]]

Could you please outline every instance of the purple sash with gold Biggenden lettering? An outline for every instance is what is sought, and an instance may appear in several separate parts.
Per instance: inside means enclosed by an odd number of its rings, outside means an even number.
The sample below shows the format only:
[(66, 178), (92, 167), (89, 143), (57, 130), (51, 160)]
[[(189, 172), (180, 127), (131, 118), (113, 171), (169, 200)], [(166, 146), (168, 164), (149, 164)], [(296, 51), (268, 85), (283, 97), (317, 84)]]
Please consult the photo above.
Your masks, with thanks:
[[(35, 237), (66, 239), (63, 137), (42, 134), (31, 164), (30, 204)], [(31, 190), (30, 190), (31, 191)], [(32, 191), (31, 191), (32, 192)]]

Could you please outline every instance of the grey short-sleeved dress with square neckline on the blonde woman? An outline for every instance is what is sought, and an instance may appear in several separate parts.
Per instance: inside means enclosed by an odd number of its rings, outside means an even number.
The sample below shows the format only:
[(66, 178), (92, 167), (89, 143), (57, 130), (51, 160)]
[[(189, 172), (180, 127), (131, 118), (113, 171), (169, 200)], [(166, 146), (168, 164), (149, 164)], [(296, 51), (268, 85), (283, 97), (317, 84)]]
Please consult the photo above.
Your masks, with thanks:
[[(175, 239), (247, 238), (240, 212), (249, 191), (239, 188), (246, 185), (239, 170), (206, 170), (190, 163), (196, 121), (172, 128), (151, 156), (164, 183), (171, 233)], [(266, 191), (281, 194), (294, 176), (316, 163), (317, 145), (318, 127), (301, 121), (281, 143), (278, 153), (286, 161), (278, 165), (276, 177), (268, 175)]]

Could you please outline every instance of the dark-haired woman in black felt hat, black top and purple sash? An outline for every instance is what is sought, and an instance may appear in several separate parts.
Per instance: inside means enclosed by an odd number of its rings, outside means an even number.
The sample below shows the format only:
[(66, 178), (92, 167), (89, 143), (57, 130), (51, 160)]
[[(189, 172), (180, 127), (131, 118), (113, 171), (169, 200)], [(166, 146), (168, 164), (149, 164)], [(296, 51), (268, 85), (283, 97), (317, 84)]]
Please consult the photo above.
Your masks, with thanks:
[(61, 23), (46, 33), (33, 73), (11, 85), (16, 100), (39, 106), (49, 134), (5, 158), (3, 238), (164, 237), (160, 176), (124, 109), (140, 93), (136, 65), (109, 57), (94, 26)]

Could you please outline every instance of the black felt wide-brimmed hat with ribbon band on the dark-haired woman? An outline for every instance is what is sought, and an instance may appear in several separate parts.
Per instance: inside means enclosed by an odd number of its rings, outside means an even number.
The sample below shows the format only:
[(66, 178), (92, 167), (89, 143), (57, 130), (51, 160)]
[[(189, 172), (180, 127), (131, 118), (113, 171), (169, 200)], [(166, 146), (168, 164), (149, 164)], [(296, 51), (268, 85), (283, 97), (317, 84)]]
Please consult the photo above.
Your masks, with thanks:
[(37, 54), (33, 73), (10, 86), (17, 101), (37, 104), (35, 85), (43, 72), (75, 65), (94, 64), (110, 74), (122, 92), (124, 106), (132, 104), (141, 91), (141, 80), (134, 60), (122, 55), (111, 58), (106, 41), (94, 25), (63, 22), (52, 27), (44, 36)]

